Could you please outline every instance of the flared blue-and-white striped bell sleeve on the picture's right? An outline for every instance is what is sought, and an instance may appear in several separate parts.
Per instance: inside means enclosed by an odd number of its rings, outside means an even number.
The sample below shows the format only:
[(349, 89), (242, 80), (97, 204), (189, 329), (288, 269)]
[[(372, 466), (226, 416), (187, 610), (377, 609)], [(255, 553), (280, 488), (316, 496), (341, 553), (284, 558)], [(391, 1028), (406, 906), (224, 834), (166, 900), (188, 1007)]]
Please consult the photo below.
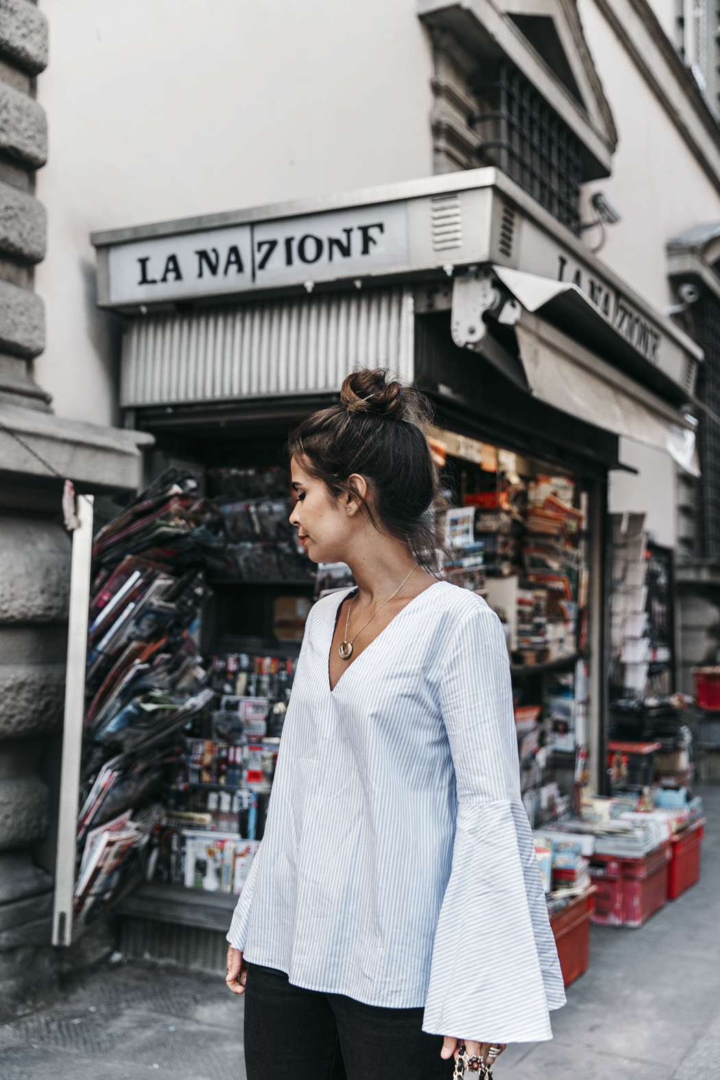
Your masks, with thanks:
[(507, 647), (478, 603), (448, 646), (440, 707), (458, 818), (423, 1030), (479, 1042), (553, 1038), (565, 1004), (532, 833), (520, 798)]

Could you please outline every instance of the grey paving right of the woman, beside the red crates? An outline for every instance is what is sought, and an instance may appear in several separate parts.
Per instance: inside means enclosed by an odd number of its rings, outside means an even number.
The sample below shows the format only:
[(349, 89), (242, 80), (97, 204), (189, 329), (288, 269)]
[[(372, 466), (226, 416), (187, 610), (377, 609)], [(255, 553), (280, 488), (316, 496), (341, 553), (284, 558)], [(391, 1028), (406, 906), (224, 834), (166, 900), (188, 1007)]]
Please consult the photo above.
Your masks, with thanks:
[(720, 1078), (720, 786), (696, 793), (699, 882), (643, 927), (593, 927), (589, 967), (552, 1014), (555, 1038), (508, 1047), (497, 1080)]

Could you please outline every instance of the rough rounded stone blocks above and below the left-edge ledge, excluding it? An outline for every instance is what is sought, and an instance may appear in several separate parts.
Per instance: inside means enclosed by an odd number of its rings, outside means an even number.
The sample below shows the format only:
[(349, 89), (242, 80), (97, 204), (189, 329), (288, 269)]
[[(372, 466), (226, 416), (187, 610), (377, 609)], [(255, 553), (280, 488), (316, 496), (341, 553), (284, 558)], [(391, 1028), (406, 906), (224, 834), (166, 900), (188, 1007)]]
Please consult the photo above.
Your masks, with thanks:
[[(50, 407), (32, 378), (45, 340), (32, 279), (45, 253), (33, 191), (47, 154), (35, 100), (46, 62), (42, 13), (29, 0), (0, 0), (0, 408), (16, 414)], [(0, 1016), (54, 969), (52, 876), (33, 853), (52, 820), (41, 772), (63, 724), (70, 561), (57, 512), (9, 468), (0, 461)]]

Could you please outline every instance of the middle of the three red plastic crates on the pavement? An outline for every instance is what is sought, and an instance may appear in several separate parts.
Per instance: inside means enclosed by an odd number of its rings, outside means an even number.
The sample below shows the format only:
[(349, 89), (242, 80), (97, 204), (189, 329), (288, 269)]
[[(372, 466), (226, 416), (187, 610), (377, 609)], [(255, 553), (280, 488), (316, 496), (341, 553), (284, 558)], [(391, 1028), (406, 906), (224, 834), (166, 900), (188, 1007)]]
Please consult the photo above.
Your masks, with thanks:
[(641, 927), (665, 903), (670, 845), (644, 859), (617, 855), (590, 858), (590, 879), (597, 888), (592, 922), (609, 927)]

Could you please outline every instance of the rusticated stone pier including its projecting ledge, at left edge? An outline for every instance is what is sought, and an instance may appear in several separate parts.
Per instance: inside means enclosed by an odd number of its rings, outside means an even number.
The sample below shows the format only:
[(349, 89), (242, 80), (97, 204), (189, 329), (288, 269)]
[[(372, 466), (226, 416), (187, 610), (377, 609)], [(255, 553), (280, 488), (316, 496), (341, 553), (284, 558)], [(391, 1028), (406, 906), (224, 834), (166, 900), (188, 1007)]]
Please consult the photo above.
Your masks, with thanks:
[(140, 475), (132, 433), (59, 419), (33, 378), (45, 342), (33, 276), (45, 253), (35, 177), (47, 157), (36, 100), (46, 64), (44, 15), (29, 0), (0, 0), (0, 1016), (55, 971), (53, 823), (71, 552), (60, 477), (107, 496), (135, 488)]

